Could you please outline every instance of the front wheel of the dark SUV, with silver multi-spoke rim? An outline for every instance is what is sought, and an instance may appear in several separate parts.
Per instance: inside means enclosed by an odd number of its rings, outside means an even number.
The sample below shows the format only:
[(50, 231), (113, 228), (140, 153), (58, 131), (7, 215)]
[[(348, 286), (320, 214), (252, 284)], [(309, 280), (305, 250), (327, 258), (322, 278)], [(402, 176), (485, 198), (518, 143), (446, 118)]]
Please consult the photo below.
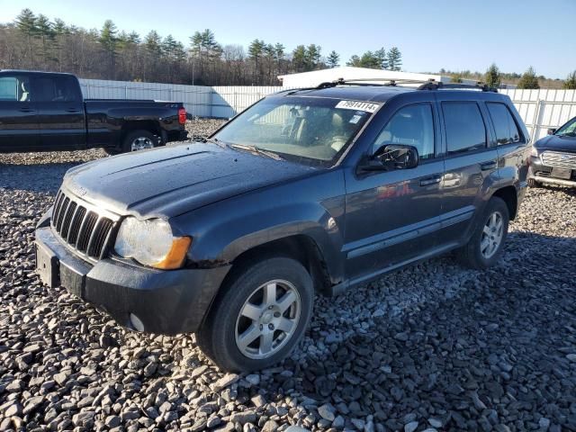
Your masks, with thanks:
[(299, 262), (269, 258), (233, 276), (196, 335), (221, 369), (253, 371), (283, 360), (311, 318), (314, 289)]

